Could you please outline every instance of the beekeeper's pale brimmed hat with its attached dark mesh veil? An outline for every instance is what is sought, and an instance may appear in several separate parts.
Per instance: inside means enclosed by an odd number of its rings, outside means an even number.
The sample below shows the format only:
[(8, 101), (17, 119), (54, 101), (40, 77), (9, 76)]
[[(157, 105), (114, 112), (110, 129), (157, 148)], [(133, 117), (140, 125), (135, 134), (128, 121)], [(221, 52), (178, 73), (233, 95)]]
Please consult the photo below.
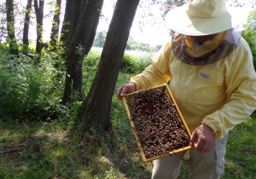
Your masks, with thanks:
[[(227, 8), (224, 0), (189, 0), (189, 3), (166, 14), (172, 30), (174, 55), (189, 65), (202, 66), (224, 59), (236, 49), (241, 33), (235, 31), (247, 14), (239, 8)], [(214, 38), (196, 44), (191, 36)]]

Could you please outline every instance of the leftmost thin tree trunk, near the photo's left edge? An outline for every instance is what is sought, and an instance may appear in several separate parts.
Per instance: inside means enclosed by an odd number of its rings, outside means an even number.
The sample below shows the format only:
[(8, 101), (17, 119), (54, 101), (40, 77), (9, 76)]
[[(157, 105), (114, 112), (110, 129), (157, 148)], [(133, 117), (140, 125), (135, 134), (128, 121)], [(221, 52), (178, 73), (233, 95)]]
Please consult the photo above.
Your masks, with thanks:
[(14, 14), (14, 0), (6, 0), (6, 20), (7, 20), (7, 32), (9, 40), (9, 50), (13, 55), (18, 55), (18, 44), (15, 38), (15, 14)]

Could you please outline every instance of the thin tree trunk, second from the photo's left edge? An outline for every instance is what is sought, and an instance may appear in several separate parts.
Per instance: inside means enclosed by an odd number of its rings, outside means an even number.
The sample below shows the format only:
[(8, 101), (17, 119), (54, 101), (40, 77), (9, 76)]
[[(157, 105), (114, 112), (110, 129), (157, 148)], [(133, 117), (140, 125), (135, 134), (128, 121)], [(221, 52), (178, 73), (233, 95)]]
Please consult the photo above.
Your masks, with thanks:
[(27, 55), (28, 49), (28, 30), (30, 24), (30, 14), (32, 9), (32, 0), (27, 0), (26, 3), (26, 14), (25, 14), (25, 21), (24, 21), (24, 30), (23, 30), (23, 54)]

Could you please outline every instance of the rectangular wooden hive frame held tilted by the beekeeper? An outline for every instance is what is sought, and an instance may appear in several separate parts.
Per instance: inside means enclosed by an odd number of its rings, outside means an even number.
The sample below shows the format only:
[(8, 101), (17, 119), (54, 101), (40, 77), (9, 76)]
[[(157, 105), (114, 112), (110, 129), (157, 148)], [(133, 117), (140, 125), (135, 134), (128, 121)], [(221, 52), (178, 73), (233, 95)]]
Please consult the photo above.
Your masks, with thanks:
[[(168, 149), (168, 150), (166, 150), (166, 151), (164, 151), (164, 152), (160, 152), (160, 154), (155, 154), (155, 156), (150, 156), (150, 155), (154, 155), (154, 154), (152, 154), (152, 153), (150, 153), (150, 152), (147, 152), (147, 154), (145, 153), (145, 151), (146, 151), (146, 149), (145, 148), (147, 148), (146, 147), (146, 144), (142, 144), (142, 143), (145, 143), (145, 142), (147, 142), (147, 143), (152, 143), (152, 142), (154, 142), (154, 141), (143, 141), (142, 140), (142, 137), (140, 138), (139, 136), (140, 135), (138, 135), (138, 134), (144, 134), (143, 132), (145, 132), (146, 133), (146, 130), (143, 130), (143, 129), (141, 129), (142, 127), (141, 127), (141, 125), (138, 125), (137, 123), (137, 121), (139, 121), (139, 120), (135, 120), (135, 118), (141, 118), (141, 119), (144, 119), (145, 117), (148, 117), (147, 118), (147, 120), (150, 122), (150, 120), (152, 120), (153, 121), (153, 118), (151, 118), (150, 117), (150, 114), (148, 114), (148, 116), (147, 115), (144, 115), (145, 113), (150, 113), (150, 112), (148, 112), (148, 110), (144, 110), (144, 114), (143, 113), (141, 113), (142, 114), (142, 116), (139, 116), (140, 115), (140, 113), (136, 113), (136, 114), (134, 114), (132, 111), (130, 111), (130, 110), (135, 110), (135, 109), (138, 109), (138, 107), (137, 107), (137, 105), (138, 104), (135, 104), (134, 102), (131, 102), (131, 99), (132, 99), (132, 101), (135, 101), (135, 99), (137, 99), (137, 101), (138, 100), (140, 100), (140, 98), (138, 97), (138, 96), (142, 96), (142, 95), (139, 95), (139, 94), (142, 94), (143, 93), (143, 91), (144, 91), (144, 93), (147, 93), (146, 91), (150, 91), (150, 90), (157, 90), (157, 91), (159, 91), (159, 90), (161, 90), (161, 91), (166, 91), (166, 96), (167, 96), (167, 98), (169, 98), (169, 100), (168, 101), (170, 101), (171, 103), (172, 103), (172, 109), (175, 107), (175, 112), (173, 112), (173, 113), (175, 113), (175, 116), (176, 117), (171, 117), (172, 119), (170, 119), (170, 115), (171, 116), (173, 116), (172, 114), (170, 114), (169, 116), (168, 116), (168, 118), (166, 118), (166, 117), (158, 117), (158, 116), (156, 116), (157, 117), (157, 119), (154, 119), (154, 120), (161, 120), (161, 118), (165, 118), (165, 120), (166, 120), (166, 122), (171, 122), (171, 120), (172, 120), (172, 123), (175, 123), (175, 125), (174, 126), (172, 126), (172, 127), (169, 127), (169, 128), (171, 128), (172, 130), (166, 130), (166, 131), (168, 131), (167, 133), (168, 133), (168, 135), (171, 135), (171, 133), (172, 133), (172, 135), (174, 135), (174, 136), (177, 136), (177, 134), (178, 135), (180, 135), (180, 133), (174, 133), (173, 131), (180, 131), (180, 132), (182, 132), (182, 137), (185, 137), (186, 138), (186, 144), (185, 144), (185, 146), (182, 146), (182, 147), (177, 147), (177, 146), (180, 146), (181, 144), (178, 144), (177, 145), (177, 141), (181, 141), (181, 139), (179, 139), (179, 138), (175, 138), (175, 140), (171, 140), (172, 142), (170, 143), (169, 141), (167, 141), (167, 144), (170, 146), (170, 148)], [(163, 92), (163, 93), (165, 93), (165, 92)], [(136, 97), (137, 96), (137, 97)], [(165, 97), (166, 97), (165, 96)], [(155, 96), (155, 95), (153, 95), (152, 96), (152, 100), (154, 99), (154, 97), (157, 97), (157, 96)], [(141, 98), (142, 99), (142, 98)], [(161, 98), (162, 99), (162, 98)], [(150, 97), (150, 99), (148, 99), (148, 100), (151, 100), (151, 97)], [(156, 100), (156, 102), (160, 102), (161, 103), (161, 101), (159, 100), (159, 99), (155, 99)], [(158, 101), (157, 101), (158, 100)], [(173, 95), (172, 95), (172, 92), (171, 92), (171, 90), (169, 89), (169, 87), (168, 87), (168, 85), (167, 84), (163, 84), (163, 85), (160, 85), (160, 86), (156, 86), (156, 87), (154, 87), (154, 88), (150, 88), (150, 89), (146, 89), (146, 90), (139, 90), (139, 91), (136, 91), (136, 92), (133, 92), (133, 93), (130, 93), (130, 94), (127, 94), (127, 95), (125, 95), (125, 96), (123, 96), (123, 101), (124, 101), (124, 103), (125, 103), (125, 109), (126, 109), (126, 112), (127, 112), (127, 114), (128, 114), (128, 117), (129, 117), (129, 120), (130, 120), (130, 123), (131, 123), (131, 127), (132, 127), (132, 130), (133, 130), (133, 133), (134, 133), (134, 136), (135, 136), (135, 138), (136, 138), (136, 141), (137, 141), (137, 146), (138, 146), (138, 148), (139, 148), (139, 151), (140, 151), (140, 153), (141, 153), (141, 155), (142, 155), (142, 158), (143, 158), (143, 163), (144, 163), (144, 165), (146, 165), (147, 164), (147, 162), (149, 162), (149, 161), (152, 161), (152, 160), (154, 160), (154, 159), (161, 159), (161, 158), (164, 158), (164, 157), (166, 157), (166, 156), (169, 156), (169, 155), (172, 155), (172, 154), (175, 154), (175, 153), (180, 153), (180, 152), (183, 152), (183, 151), (186, 151), (186, 150), (188, 150), (188, 149), (190, 149), (191, 148), (191, 145), (190, 145), (190, 142), (189, 142), (189, 140), (190, 140), (190, 136), (191, 136), (191, 133), (190, 133), (190, 131), (189, 131), (189, 128), (188, 128), (188, 126), (187, 126), (187, 124), (186, 124), (186, 122), (185, 122), (185, 120), (184, 120), (184, 118), (183, 118), (183, 115), (182, 115), (182, 113), (180, 112), (180, 110), (179, 110), (179, 108), (177, 107), (177, 103), (176, 103), (176, 101), (174, 100), (174, 98), (173, 98)], [(142, 100), (141, 100), (142, 101)], [(132, 104), (131, 104), (132, 103)], [(145, 103), (143, 103), (143, 107), (147, 107), (147, 105), (148, 104), (145, 104)], [(154, 109), (152, 109), (152, 105), (153, 105), (153, 107), (155, 107), (155, 106), (157, 106), (157, 104), (150, 104), (151, 105), (151, 111), (152, 110), (154, 110), (154, 113), (156, 113), (155, 111), (155, 108)], [(149, 107), (149, 106), (148, 106)], [(162, 105), (162, 107), (164, 107), (164, 105)], [(157, 107), (156, 107), (157, 108)], [(158, 110), (158, 109), (157, 109)], [(167, 110), (170, 110), (170, 109), (167, 109)], [(138, 109), (138, 111), (142, 111), (141, 109)], [(158, 111), (159, 112), (159, 111)], [(167, 112), (168, 113), (168, 112)], [(160, 114), (161, 115), (161, 114)], [(139, 116), (139, 117), (135, 117), (135, 116)], [(145, 119), (146, 120), (146, 119)], [(141, 120), (142, 121), (142, 120)], [(160, 122), (161, 123), (161, 122)], [(167, 124), (169, 124), (169, 123), (167, 123)], [(152, 125), (148, 125), (148, 124), (146, 124), (147, 126), (148, 126), (148, 128), (150, 128), (150, 129), (156, 129), (157, 127), (156, 126), (152, 126)], [(158, 128), (159, 129), (156, 129), (156, 131), (161, 131), (161, 130), (164, 130), (165, 129), (165, 127), (168, 127), (168, 126), (163, 126), (163, 124), (158, 124), (157, 125), (158, 126)], [(171, 124), (170, 124), (170, 126), (171, 126)], [(175, 127), (176, 126), (176, 127)], [(180, 126), (180, 128), (178, 128), (177, 126)], [(175, 129), (174, 129), (175, 128)], [(173, 130), (174, 129), (174, 130)], [(152, 130), (151, 130), (152, 131)], [(153, 133), (154, 133), (154, 131), (153, 131)], [(169, 134), (170, 133), (170, 134)], [(158, 135), (160, 135), (160, 133), (158, 133), (158, 132), (156, 132), (155, 133), (155, 136), (157, 137)], [(141, 135), (141, 136), (143, 136), (143, 135)], [(149, 134), (149, 136), (154, 136), (152, 133), (151, 134)], [(161, 136), (161, 137), (163, 137), (163, 136)], [(170, 136), (168, 136), (169, 137), (169, 139), (170, 139)], [(148, 138), (147, 138), (148, 139)], [(161, 138), (160, 140), (162, 140), (163, 138)], [(174, 138), (173, 138), (174, 139)], [(167, 139), (164, 139), (165, 141), (167, 140)], [(176, 141), (177, 140), (177, 141)], [(176, 143), (175, 143), (176, 142)], [(160, 145), (161, 144), (161, 141), (156, 141), (155, 143), (154, 143), (154, 146), (152, 145), (152, 146), (150, 146), (151, 148), (153, 148), (154, 149), (154, 147), (156, 148), (157, 147), (157, 145)], [(167, 145), (166, 144), (166, 145)], [(149, 145), (149, 144), (148, 144)], [(175, 148), (171, 148), (171, 147), (175, 147)], [(144, 150), (143, 150), (143, 148), (144, 148)], [(168, 148), (168, 146), (166, 147), (166, 148)], [(147, 149), (147, 150), (149, 150), (149, 149)], [(149, 153), (149, 154), (148, 154)]]

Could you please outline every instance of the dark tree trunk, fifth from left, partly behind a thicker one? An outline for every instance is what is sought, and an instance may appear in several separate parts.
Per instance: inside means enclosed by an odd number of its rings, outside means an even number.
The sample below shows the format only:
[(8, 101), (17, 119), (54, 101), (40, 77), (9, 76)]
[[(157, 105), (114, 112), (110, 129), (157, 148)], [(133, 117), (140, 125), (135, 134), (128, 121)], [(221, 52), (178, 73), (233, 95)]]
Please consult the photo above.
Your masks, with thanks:
[[(73, 38), (75, 28), (79, 22), (79, 15), (83, 12), (83, 3), (87, 0), (67, 0), (63, 25), (61, 29), (61, 42), (69, 44)], [(65, 46), (64, 44), (64, 46)]]

